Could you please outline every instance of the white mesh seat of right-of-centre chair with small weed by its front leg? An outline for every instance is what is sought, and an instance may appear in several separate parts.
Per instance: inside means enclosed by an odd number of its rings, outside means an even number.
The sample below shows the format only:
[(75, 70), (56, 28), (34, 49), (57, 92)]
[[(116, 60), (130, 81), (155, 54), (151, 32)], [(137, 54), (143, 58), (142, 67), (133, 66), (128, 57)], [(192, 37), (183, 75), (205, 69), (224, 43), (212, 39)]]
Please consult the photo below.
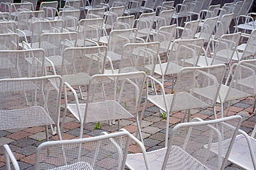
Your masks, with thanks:
[[(167, 94), (166, 95), (166, 102), (168, 108), (171, 108), (171, 103), (173, 102), (174, 94)], [(161, 110), (166, 111), (166, 106), (164, 105), (164, 98), (163, 96), (149, 96), (149, 101), (154, 103), (157, 107), (161, 108)], [(175, 106), (172, 111), (183, 111), (187, 109), (193, 108), (208, 108), (210, 105), (205, 103), (198, 98), (188, 94), (186, 92), (181, 92), (176, 94), (175, 99)]]

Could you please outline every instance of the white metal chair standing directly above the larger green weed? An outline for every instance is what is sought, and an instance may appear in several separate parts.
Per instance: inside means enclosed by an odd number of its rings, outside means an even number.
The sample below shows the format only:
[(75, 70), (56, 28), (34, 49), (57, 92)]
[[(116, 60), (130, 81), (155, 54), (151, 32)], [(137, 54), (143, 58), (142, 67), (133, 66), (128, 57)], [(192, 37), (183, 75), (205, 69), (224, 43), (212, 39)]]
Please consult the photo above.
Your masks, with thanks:
[[(137, 114), (145, 79), (144, 72), (94, 75), (90, 78), (85, 101), (78, 101), (75, 89), (68, 83), (64, 83), (65, 112), (63, 116), (69, 110), (80, 122), (80, 137), (82, 137), (83, 125), (86, 123), (133, 117), (139, 120)], [(75, 96), (75, 103), (68, 103), (67, 88)], [(137, 125), (139, 128), (138, 121)], [(119, 123), (118, 128), (120, 128)], [(141, 134), (140, 137), (142, 137)]]

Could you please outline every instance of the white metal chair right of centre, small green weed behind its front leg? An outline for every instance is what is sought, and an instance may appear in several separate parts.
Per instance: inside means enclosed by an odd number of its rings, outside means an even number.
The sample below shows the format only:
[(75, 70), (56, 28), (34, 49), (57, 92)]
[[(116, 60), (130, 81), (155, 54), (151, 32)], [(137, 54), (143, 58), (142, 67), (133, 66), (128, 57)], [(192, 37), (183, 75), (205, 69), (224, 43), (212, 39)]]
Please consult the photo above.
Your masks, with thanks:
[(195, 108), (213, 108), (215, 113), (215, 102), (218, 97), (220, 85), (225, 73), (225, 64), (210, 67), (184, 67), (178, 72), (178, 79), (174, 86), (174, 94), (165, 94), (164, 85), (153, 77), (148, 77), (154, 81), (156, 86), (161, 86), (161, 94), (149, 94), (149, 84), (146, 81), (146, 101), (142, 109), (141, 118), (144, 116), (146, 103), (150, 101), (166, 113), (166, 137), (165, 146), (167, 147), (169, 135), (169, 119), (173, 111), (185, 111), (183, 120), (190, 111)]

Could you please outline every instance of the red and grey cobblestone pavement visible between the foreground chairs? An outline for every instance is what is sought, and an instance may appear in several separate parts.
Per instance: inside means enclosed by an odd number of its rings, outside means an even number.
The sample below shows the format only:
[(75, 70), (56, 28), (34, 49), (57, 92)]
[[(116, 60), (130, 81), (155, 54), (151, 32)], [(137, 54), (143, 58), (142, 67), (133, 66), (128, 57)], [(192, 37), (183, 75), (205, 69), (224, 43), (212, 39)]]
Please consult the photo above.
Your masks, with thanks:
[[(166, 92), (171, 91), (171, 82), (166, 81), (165, 84)], [(142, 105), (140, 111), (142, 111)], [(253, 98), (241, 98), (238, 101), (234, 101), (233, 105), (230, 107), (228, 115), (242, 115), (242, 125), (241, 129), (245, 132), (252, 132), (252, 128), (256, 123), (256, 116), (250, 114), (252, 112), (252, 104), (254, 103)], [(63, 100), (62, 100), (63, 108)], [(218, 111), (218, 117), (220, 117), (220, 106), (216, 106), (216, 111)], [(192, 118), (202, 118), (203, 120), (213, 119), (213, 111), (211, 108), (193, 110)], [(181, 123), (183, 118), (182, 112), (172, 113), (170, 118), (170, 131), (171, 129)], [(127, 119), (121, 120), (121, 128), (125, 128), (133, 135), (137, 130), (136, 120)], [(102, 128), (100, 130), (95, 130), (96, 123), (89, 123), (84, 126), (84, 137), (92, 137), (100, 135), (101, 132), (114, 132), (118, 130), (117, 125), (110, 126), (107, 121), (102, 122)], [(164, 147), (164, 134), (165, 134), (165, 125), (166, 119), (162, 118), (159, 114), (159, 109), (151, 103), (147, 103), (145, 117), (142, 120), (142, 133), (144, 136), (144, 145), (147, 151), (154, 149), (159, 149)], [(0, 169), (6, 169), (4, 164), (4, 144), (9, 144), (11, 150), (14, 152), (18, 164), (21, 166), (21, 169), (31, 169), (32, 164), (35, 159), (35, 150), (38, 145), (46, 141), (46, 134), (44, 132), (44, 127), (35, 127), (28, 129), (19, 129), (19, 130), (5, 130), (0, 131)], [(80, 131), (80, 123), (70, 114), (66, 118), (64, 125), (64, 133), (62, 134), (63, 140), (70, 140), (78, 138)], [(50, 136), (50, 140), (58, 140), (57, 135)], [(131, 145), (129, 152), (137, 153), (140, 152), (137, 145)], [(239, 169), (233, 164), (228, 164), (225, 169)]]

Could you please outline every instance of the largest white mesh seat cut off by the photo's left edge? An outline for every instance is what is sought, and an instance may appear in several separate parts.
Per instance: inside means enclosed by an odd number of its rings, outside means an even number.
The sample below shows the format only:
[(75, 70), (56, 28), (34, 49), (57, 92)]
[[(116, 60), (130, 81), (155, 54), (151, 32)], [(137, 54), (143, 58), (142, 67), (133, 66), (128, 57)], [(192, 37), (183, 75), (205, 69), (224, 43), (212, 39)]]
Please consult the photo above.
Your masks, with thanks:
[[(32, 118), (32, 119), (28, 119)], [(0, 111), (0, 130), (29, 128), (32, 126), (52, 125), (54, 121), (42, 106), (32, 106), (14, 110)]]

